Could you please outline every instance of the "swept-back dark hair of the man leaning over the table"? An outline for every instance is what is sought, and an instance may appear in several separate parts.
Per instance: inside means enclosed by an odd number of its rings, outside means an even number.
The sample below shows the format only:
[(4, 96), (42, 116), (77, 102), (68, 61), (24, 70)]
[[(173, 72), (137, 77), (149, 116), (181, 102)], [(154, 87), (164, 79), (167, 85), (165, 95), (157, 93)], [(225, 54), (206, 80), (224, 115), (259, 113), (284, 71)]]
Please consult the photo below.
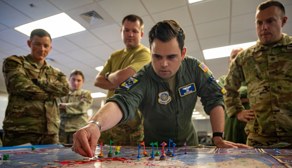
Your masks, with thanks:
[(173, 37), (176, 37), (180, 51), (181, 53), (183, 52), (183, 47), (185, 45), (185, 31), (175, 20), (164, 20), (158, 22), (150, 30), (148, 37), (150, 47), (153, 40), (156, 38), (162, 42), (169, 42)]

